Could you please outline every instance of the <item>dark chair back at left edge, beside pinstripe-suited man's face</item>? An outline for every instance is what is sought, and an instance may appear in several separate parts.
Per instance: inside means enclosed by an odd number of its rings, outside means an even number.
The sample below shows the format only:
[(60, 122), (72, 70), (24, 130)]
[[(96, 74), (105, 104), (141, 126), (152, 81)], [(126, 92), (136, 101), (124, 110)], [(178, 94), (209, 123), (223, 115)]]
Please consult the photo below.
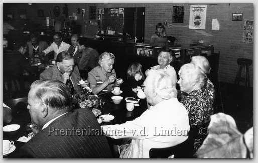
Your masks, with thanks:
[(28, 100), (27, 97), (23, 97), (23, 98), (5, 100), (4, 103), (12, 109), (13, 113), (19, 113), (22, 111), (21, 108), (23, 109), (27, 108), (27, 105), (28, 105), (27, 100)]

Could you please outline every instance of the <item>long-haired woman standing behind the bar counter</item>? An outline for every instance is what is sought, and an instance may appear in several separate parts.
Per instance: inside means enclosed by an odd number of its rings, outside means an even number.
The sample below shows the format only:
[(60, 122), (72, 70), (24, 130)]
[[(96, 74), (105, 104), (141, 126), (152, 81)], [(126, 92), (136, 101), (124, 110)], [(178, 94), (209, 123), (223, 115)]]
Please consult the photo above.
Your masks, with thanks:
[(168, 46), (168, 38), (167, 38), (166, 30), (162, 23), (158, 23), (156, 25), (156, 31), (151, 36), (150, 45), (156, 46), (156, 47)]

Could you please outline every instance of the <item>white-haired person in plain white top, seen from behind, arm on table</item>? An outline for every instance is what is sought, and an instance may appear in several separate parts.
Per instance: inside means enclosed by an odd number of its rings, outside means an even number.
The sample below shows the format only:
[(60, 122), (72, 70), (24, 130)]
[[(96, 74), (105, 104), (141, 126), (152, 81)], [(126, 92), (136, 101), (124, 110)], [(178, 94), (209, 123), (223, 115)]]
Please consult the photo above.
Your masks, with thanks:
[(101, 126), (108, 137), (132, 139), (130, 144), (121, 146), (120, 158), (149, 158), (151, 148), (175, 146), (188, 138), (189, 119), (177, 100), (176, 72), (150, 70), (143, 84), (151, 107), (133, 121)]

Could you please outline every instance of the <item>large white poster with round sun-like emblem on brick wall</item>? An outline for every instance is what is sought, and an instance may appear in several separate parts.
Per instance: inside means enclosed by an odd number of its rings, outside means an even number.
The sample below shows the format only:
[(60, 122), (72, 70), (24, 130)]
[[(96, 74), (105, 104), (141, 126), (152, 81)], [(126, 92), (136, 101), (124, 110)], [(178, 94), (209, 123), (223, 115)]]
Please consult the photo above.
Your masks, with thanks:
[(205, 30), (207, 5), (191, 5), (189, 29)]

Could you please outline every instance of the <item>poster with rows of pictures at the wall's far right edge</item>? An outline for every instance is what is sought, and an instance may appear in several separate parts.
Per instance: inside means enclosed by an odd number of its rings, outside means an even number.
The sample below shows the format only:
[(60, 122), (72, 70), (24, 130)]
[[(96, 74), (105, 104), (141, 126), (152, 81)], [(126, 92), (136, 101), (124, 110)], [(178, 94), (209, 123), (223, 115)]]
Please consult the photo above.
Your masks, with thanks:
[(253, 20), (244, 20), (243, 43), (253, 43)]

